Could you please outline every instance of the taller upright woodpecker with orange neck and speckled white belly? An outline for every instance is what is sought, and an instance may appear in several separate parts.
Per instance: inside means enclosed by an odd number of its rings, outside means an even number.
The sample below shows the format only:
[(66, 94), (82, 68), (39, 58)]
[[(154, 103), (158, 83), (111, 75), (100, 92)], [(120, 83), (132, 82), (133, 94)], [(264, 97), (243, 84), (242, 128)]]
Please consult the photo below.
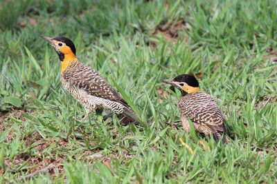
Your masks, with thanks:
[(76, 48), (66, 37), (40, 37), (55, 49), (61, 61), (62, 85), (84, 107), (86, 121), (93, 110), (110, 110), (118, 115), (120, 123), (138, 125), (139, 119), (120, 94), (93, 68), (84, 65), (76, 57)]

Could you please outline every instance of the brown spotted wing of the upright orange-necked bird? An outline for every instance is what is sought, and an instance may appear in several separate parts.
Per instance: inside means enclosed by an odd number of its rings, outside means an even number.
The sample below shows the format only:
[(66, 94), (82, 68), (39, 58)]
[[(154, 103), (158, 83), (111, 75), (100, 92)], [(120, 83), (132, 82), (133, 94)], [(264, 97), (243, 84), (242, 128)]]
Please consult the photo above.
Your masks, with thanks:
[(120, 97), (120, 94), (118, 94), (114, 88), (111, 88), (111, 85), (109, 85), (98, 72), (80, 61), (77, 61), (69, 67), (69, 69), (65, 70), (62, 74), (62, 78), (71, 85), (85, 90), (93, 96), (117, 101), (127, 107), (129, 106), (127, 102)]

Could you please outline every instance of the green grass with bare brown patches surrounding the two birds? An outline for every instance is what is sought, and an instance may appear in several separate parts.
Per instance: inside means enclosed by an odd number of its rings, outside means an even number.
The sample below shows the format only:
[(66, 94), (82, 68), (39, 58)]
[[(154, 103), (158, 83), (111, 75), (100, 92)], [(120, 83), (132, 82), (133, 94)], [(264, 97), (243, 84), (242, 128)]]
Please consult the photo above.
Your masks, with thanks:
[[(276, 183), (275, 1), (0, 7), (0, 183)], [(39, 34), (71, 38), (143, 126), (95, 113), (78, 121), (84, 110), (62, 88), (60, 61)], [(180, 94), (159, 80), (189, 72), (226, 114), (229, 145), (204, 139), (205, 151), (199, 134), (182, 131)]]

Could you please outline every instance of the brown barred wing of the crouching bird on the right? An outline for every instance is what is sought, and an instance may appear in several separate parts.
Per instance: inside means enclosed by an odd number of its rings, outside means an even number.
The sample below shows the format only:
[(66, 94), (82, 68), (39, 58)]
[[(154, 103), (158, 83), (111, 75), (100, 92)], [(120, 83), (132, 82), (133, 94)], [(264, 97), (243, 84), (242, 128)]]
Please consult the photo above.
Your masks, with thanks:
[(187, 94), (179, 101), (179, 111), (181, 116), (202, 126), (204, 132), (226, 132), (224, 116), (208, 94)]

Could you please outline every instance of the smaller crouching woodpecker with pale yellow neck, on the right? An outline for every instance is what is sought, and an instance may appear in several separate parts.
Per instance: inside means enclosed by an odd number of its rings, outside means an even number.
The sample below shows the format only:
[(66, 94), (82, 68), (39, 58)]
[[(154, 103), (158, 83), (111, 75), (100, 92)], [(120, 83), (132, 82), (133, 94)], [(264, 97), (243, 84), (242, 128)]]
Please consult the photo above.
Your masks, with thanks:
[(226, 136), (226, 118), (215, 100), (210, 94), (202, 92), (199, 88), (199, 82), (192, 74), (181, 74), (174, 79), (162, 79), (181, 91), (178, 110), (181, 123), (185, 132), (190, 132), (189, 119), (193, 123), (197, 132), (215, 139), (218, 143), (229, 143)]

